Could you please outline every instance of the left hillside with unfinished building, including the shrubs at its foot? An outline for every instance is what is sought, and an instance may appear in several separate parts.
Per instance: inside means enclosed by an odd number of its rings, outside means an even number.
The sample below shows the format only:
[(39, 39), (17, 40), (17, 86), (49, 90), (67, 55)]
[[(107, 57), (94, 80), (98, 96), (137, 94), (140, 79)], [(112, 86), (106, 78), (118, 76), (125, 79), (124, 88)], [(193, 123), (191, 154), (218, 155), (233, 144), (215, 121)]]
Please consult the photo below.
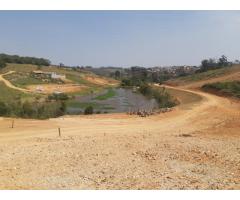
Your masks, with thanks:
[(58, 117), (69, 109), (75, 110), (80, 96), (117, 85), (113, 79), (73, 68), (7, 64), (0, 70), (0, 115), (37, 119)]

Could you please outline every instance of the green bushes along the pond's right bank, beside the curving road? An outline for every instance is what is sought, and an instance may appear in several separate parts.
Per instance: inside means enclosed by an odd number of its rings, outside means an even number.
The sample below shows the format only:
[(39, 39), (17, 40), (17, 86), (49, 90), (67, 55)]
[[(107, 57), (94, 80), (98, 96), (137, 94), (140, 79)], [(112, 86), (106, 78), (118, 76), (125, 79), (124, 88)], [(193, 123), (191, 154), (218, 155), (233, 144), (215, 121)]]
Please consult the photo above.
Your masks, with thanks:
[(173, 99), (164, 87), (156, 88), (149, 84), (142, 84), (139, 88), (139, 92), (144, 96), (154, 98), (157, 101), (159, 108), (170, 108), (178, 104), (177, 100)]

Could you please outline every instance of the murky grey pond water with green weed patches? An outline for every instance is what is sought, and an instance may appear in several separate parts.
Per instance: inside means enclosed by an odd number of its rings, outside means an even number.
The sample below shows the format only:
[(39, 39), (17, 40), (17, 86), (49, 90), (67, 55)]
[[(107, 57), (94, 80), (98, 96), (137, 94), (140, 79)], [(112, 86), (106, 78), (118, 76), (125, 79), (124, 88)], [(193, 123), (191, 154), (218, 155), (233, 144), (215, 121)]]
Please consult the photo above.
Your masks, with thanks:
[(126, 88), (113, 88), (110, 96), (105, 96), (103, 99), (98, 97), (106, 95), (109, 90), (104, 90), (97, 94), (86, 96), (76, 96), (75, 99), (68, 105), (67, 112), (69, 114), (79, 114), (84, 109), (91, 105), (94, 112), (100, 111), (101, 113), (118, 113), (128, 112), (130, 110), (151, 110), (158, 107), (155, 99), (149, 99), (140, 93), (133, 92), (132, 89)]

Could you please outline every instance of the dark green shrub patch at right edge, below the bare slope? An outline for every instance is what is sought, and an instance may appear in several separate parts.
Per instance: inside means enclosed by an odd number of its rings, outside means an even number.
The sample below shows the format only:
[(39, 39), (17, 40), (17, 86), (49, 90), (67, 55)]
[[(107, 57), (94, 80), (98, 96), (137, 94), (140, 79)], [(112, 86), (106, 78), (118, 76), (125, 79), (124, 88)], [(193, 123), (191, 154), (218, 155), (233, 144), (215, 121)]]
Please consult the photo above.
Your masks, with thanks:
[(240, 81), (216, 82), (202, 86), (206, 91), (219, 92), (224, 95), (240, 98)]

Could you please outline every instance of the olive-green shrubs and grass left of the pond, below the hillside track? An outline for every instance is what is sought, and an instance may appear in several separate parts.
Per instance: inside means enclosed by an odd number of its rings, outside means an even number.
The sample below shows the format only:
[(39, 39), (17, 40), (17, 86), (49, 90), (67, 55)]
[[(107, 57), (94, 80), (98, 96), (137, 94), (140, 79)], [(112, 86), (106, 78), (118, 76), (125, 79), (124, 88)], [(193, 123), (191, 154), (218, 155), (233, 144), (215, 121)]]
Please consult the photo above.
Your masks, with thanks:
[(33, 95), (8, 88), (0, 82), (0, 116), (47, 119), (65, 113), (64, 101), (49, 101), (44, 95)]

